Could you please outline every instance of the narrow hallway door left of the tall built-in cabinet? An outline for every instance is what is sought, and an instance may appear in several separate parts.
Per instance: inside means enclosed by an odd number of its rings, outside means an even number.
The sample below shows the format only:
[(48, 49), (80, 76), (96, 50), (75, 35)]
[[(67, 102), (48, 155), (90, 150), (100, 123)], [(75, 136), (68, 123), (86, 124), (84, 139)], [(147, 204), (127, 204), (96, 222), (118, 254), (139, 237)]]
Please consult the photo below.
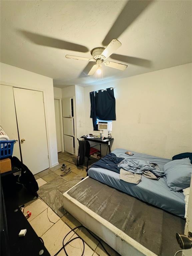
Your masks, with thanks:
[(61, 122), (60, 122), (60, 106), (59, 100), (54, 99), (55, 104), (55, 123), (56, 123), (56, 136), (57, 136), (57, 152), (61, 152)]

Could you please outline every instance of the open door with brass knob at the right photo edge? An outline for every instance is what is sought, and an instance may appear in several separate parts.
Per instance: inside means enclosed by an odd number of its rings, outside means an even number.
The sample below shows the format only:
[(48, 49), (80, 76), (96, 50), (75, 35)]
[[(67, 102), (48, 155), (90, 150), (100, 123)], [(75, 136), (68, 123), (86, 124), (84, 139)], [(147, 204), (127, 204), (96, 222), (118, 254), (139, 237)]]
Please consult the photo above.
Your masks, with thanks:
[[(191, 179), (190, 192), (189, 192), (189, 203), (187, 208), (185, 235), (188, 235), (189, 231), (192, 232), (192, 179)], [(183, 250), (183, 256), (191, 256), (191, 255), (192, 255), (192, 248)]]

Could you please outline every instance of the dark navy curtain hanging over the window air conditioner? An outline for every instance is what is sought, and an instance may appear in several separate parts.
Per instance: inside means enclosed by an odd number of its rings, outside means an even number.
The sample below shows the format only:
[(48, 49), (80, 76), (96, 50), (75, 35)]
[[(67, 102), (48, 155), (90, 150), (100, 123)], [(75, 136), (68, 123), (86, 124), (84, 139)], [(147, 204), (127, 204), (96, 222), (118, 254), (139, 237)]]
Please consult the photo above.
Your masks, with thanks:
[(116, 120), (114, 90), (107, 88), (98, 92), (90, 92), (91, 114), (93, 129), (98, 131), (97, 119), (111, 121)]

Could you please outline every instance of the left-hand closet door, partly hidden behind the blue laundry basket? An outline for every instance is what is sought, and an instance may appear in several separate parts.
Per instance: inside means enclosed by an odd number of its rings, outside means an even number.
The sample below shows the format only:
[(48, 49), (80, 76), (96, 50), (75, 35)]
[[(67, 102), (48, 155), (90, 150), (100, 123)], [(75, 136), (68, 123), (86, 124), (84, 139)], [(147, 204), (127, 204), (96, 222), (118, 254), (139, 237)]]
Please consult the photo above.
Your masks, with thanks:
[(21, 160), (13, 87), (2, 84), (0, 85), (0, 124), (10, 140), (17, 140), (14, 144), (13, 156)]

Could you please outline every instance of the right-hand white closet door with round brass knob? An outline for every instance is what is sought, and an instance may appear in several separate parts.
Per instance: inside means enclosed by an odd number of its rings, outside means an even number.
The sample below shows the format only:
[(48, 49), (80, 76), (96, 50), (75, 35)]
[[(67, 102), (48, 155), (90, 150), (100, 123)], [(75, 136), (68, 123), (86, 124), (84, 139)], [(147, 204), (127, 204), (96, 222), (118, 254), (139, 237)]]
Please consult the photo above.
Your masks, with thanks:
[(49, 168), (43, 92), (13, 88), (23, 163), (33, 174)]

